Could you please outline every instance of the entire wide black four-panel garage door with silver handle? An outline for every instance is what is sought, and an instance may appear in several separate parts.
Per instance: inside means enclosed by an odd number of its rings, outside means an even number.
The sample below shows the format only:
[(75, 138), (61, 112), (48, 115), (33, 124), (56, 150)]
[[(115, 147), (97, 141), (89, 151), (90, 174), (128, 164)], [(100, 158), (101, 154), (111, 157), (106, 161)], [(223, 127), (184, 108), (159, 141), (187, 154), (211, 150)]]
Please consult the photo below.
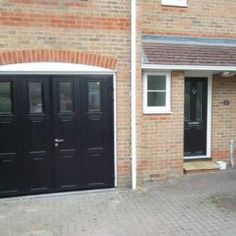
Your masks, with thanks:
[(114, 185), (112, 76), (0, 77), (0, 196)]

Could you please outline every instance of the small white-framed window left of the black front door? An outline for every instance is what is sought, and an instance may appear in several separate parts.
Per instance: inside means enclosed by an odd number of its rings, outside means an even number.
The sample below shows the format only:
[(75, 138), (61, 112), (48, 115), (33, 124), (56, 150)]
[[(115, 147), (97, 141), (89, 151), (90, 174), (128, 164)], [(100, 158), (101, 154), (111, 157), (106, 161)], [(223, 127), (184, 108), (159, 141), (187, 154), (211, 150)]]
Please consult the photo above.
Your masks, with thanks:
[(170, 73), (145, 73), (143, 112), (170, 113), (170, 87)]

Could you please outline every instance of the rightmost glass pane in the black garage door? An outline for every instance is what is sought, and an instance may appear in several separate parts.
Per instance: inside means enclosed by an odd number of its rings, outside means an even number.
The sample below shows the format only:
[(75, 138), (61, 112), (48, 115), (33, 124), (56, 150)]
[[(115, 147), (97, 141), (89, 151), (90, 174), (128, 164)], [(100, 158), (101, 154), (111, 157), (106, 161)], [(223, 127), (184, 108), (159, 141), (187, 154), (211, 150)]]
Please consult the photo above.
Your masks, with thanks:
[(101, 110), (100, 82), (88, 82), (88, 111)]

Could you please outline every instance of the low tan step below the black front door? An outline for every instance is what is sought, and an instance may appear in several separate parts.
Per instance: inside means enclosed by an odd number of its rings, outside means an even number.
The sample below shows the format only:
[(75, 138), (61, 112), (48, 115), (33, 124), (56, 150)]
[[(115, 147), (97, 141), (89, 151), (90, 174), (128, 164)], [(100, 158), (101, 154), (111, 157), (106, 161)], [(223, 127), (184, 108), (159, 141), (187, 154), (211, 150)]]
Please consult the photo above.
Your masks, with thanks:
[(214, 161), (188, 161), (184, 163), (184, 173), (194, 174), (219, 171), (219, 165)]

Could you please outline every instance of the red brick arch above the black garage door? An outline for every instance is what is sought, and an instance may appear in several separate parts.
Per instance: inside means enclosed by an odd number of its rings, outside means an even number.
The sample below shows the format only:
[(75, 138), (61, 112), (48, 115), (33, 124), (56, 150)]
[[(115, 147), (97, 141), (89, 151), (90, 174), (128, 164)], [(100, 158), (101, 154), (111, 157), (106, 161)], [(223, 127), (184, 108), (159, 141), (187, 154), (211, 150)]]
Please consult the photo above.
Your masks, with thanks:
[(30, 62), (63, 62), (99, 66), (114, 70), (117, 59), (86, 52), (53, 49), (31, 49), (0, 52), (0, 65)]

